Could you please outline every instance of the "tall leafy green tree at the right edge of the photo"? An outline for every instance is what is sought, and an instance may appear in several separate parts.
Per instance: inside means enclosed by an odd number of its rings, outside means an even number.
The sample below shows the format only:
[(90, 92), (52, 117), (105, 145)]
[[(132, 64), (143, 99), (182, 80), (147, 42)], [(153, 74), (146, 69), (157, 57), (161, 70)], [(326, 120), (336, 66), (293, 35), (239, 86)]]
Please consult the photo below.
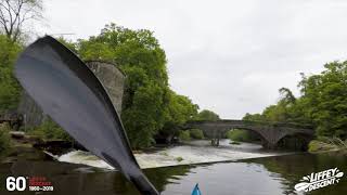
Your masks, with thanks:
[(318, 135), (347, 138), (347, 61), (324, 65), (319, 75), (299, 83)]

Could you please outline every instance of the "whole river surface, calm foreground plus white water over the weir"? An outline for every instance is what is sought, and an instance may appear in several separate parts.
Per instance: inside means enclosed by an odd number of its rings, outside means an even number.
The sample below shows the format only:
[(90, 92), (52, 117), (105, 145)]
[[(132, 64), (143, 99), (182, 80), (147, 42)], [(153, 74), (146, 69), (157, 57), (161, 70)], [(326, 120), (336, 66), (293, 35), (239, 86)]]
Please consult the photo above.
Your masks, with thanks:
[[(227, 152), (228, 150), (229, 152)], [(347, 174), (347, 156), (344, 154), (285, 153), (285, 155), (280, 155), (279, 153), (262, 151), (260, 146), (253, 144), (230, 146), (227, 141), (223, 142), (223, 146), (220, 148), (206, 146), (204, 142), (193, 142), (191, 145), (159, 150), (151, 154), (139, 154), (137, 155), (137, 159), (139, 159), (142, 167), (184, 164), (184, 160), (178, 162), (175, 159), (177, 155), (184, 158), (185, 162), (203, 162), (220, 159), (231, 159), (234, 161), (144, 169), (145, 174), (163, 195), (189, 195), (195, 183), (200, 184), (200, 188), (204, 195), (303, 194), (295, 192), (294, 185), (304, 176), (335, 167)], [(151, 156), (151, 159), (149, 156)], [(249, 158), (242, 159), (244, 157)], [(107, 169), (107, 165), (103, 165), (102, 161), (88, 153), (72, 152), (59, 158), (61, 160), (68, 159), (74, 162), (77, 162), (77, 159), (83, 159), (87, 162), (83, 160), (80, 162), (92, 164), (94, 167), (63, 161), (2, 164), (0, 166), (0, 182), (4, 183), (5, 177), (11, 174), (43, 176), (52, 181), (54, 185), (54, 192), (47, 194), (139, 194), (132, 184), (127, 182), (120, 173)], [(165, 160), (158, 162), (154, 159)], [(88, 160), (90, 161), (88, 162)], [(7, 192), (2, 184), (0, 186), (0, 194), (15, 193)], [(17, 194), (34, 193), (26, 191)], [(308, 194), (347, 194), (346, 176), (337, 184), (316, 190)]]

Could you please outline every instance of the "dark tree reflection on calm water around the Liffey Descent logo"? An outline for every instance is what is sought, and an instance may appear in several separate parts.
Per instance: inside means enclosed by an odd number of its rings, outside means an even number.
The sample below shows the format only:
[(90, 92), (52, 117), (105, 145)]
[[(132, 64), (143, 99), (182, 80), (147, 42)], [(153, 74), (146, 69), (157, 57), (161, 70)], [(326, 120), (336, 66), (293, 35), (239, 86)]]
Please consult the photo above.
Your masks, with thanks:
[(282, 184), (283, 194), (295, 194), (294, 185), (299, 180), (311, 172), (319, 172), (337, 167), (345, 173), (339, 183), (323, 188), (311, 191), (307, 194), (347, 194), (347, 155), (339, 153), (323, 154), (298, 154), (282, 157), (258, 158), (243, 160), (248, 164), (262, 165), (267, 170), (273, 173), (271, 178), (279, 179)]

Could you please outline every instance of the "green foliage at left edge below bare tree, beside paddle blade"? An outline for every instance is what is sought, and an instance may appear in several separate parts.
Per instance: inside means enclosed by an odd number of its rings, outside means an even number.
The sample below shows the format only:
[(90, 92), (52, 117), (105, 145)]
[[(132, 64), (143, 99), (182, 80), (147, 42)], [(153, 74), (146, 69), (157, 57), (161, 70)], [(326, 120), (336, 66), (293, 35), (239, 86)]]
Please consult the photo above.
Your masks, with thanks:
[(16, 108), (21, 87), (13, 76), (13, 64), (22, 46), (0, 35), (0, 113)]

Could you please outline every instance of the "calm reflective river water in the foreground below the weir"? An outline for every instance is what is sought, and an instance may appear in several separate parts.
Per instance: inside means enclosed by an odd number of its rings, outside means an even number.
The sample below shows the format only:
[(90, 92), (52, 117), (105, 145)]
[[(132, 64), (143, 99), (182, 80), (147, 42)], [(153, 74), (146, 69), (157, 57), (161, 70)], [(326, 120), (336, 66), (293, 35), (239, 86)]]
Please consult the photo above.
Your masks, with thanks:
[[(347, 173), (346, 162), (347, 157), (336, 153), (298, 154), (204, 166), (154, 168), (144, 172), (164, 195), (190, 194), (195, 183), (200, 183), (206, 195), (300, 194), (295, 193), (294, 185), (301, 177), (335, 167)], [(47, 177), (54, 185), (54, 192), (48, 194), (138, 194), (132, 184), (116, 171), (52, 161), (1, 165), (1, 194), (14, 194), (3, 188), (5, 177), (10, 174)], [(346, 177), (338, 184), (310, 192), (329, 195), (346, 193)]]

